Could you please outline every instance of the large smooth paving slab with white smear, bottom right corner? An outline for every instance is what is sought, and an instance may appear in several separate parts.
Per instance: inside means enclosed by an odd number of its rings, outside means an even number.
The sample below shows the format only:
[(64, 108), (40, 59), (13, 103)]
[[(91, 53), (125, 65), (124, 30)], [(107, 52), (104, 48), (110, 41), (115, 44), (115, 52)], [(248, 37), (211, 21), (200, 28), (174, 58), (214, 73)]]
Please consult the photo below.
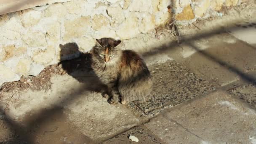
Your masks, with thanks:
[(167, 144), (251, 144), (256, 111), (224, 91), (170, 108), (145, 126)]

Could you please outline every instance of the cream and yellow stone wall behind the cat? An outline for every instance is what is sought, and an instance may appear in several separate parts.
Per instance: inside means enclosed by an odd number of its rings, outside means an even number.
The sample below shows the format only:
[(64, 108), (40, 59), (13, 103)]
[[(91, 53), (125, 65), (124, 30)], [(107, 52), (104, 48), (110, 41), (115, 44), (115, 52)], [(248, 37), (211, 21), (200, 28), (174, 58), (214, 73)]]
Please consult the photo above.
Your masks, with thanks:
[[(11, 3), (13, 0), (8, 0)], [(24, 0), (19, 0), (24, 1)], [(31, 0), (38, 1), (38, 0)], [(43, 0), (0, 16), (0, 85), (89, 51), (96, 38), (130, 39), (174, 17), (189, 23), (243, 0)], [(7, 0), (6, 0), (7, 2)], [(35, 4), (35, 3), (34, 3)], [(27, 4), (29, 5), (29, 3)], [(0, 5), (0, 11), (3, 5)], [(30, 5), (31, 6), (31, 5)], [(20, 5), (19, 8), (21, 8)], [(20, 10), (20, 9), (17, 10)], [(14, 11), (14, 9), (12, 9)], [(6, 11), (5, 11), (6, 12)], [(76, 43), (67, 44), (67, 43)]]

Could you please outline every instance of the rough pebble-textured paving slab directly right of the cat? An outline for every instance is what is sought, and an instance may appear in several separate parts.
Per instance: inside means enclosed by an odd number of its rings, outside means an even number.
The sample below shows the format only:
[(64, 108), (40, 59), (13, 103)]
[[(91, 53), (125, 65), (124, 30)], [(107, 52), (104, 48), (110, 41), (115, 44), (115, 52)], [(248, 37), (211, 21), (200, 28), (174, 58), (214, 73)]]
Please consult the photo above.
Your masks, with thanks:
[(149, 66), (154, 83), (152, 99), (134, 102), (130, 107), (142, 111), (141, 115), (157, 115), (163, 108), (173, 107), (216, 89), (214, 85), (195, 75), (173, 60)]

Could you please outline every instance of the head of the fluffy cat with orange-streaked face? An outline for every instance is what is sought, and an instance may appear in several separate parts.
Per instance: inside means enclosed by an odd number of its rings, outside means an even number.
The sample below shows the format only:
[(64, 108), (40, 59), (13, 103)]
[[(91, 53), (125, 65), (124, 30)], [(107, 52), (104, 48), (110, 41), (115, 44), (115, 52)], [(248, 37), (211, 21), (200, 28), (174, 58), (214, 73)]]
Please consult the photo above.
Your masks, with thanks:
[(117, 45), (121, 43), (121, 40), (115, 40), (113, 38), (101, 38), (96, 39), (96, 45), (93, 47), (93, 56), (101, 63), (112, 63), (120, 56), (120, 49)]

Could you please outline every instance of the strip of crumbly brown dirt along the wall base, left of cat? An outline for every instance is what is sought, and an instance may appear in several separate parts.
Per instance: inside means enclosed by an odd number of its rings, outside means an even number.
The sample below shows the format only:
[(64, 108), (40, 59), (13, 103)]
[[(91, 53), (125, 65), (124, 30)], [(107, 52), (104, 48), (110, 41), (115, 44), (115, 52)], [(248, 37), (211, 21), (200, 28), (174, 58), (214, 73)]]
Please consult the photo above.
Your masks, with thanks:
[(24, 91), (28, 88), (33, 91), (47, 91), (51, 89), (51, 77), (53, 75), (72, 73), (76, 69), (91, 70), (90, 63), (90, 54), (81, 53), (76, 59), (61, 61), (59, 64), (46, 67), (37, 76), (23, 76), (18, 81), (3, 83), (0, 88), (0, 94), (4, 92)]

